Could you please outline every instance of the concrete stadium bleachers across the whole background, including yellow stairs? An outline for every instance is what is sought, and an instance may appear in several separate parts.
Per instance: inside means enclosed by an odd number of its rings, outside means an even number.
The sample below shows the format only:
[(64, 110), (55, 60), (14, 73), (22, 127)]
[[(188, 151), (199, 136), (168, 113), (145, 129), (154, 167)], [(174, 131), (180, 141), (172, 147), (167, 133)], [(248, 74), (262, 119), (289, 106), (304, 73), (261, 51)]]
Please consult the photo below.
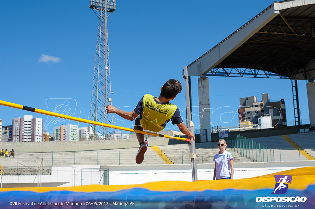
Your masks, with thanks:
[[(315, 133), (291, 134), (287, 137), (296, 144), (293, 147), (281, 136), (253, 138), (250, 145), (245, 149), (235, 148), (232, 141), (228, 141), (227, 151), (231, 152), (234, 162), (262, 162), (262, 161), (306, 161), (307, 158), (298, 151), (304, 150), (315, 156)], [(252, 143), (254, 149), (252, 149)], [(257, 149), (255, 149), (255, 143)], [(261, 149), (259, 150), (259, 143)], [(197, 163), (214, 163), (213, 157), (219, 152), (217, 142), (206, 142), (196, 144)], [(264, 149), (262, 149), (264, 145)], [(239, 146), (239, 143), (238, 143)], [(266, 147), (268, 149), (266, 149)], [(69, 165), (138, 165), (135, 155), (138, 148), (113, 149), (113, 150), (90, 150), (76, 152), (48, 152), (48, 153), (15, 153), (15, 158), (0, 158), (4, 175), (36, 174), (40, 168), (42, 175), (50, 174), (51, 166)], [(162, 156), (161, 156), (162, 152)], [(163, 145), (148, 147), (144, 161), (141, 165), (161, 164), (191, 164), (189, 158), (188, 144)], [(307, 156), (307, 155), (306, 155)], [(1, 170), (1, 169), (0, 169)]]

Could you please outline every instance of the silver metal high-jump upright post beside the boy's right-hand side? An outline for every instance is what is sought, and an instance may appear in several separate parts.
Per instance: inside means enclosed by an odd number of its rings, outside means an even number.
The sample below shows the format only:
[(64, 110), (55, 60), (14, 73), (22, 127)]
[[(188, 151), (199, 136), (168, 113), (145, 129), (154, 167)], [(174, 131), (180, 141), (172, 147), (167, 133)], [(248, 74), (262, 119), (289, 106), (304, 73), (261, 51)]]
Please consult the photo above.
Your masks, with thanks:
[[(190, 77), (188, 76), (187, 66), (184, 66), (183, 69), (183, 78), (185, 79), (185, 92), (186, 92), (186, 117), (187, 117), (187, 127), (188, 130), (192, 133), (194, 132), (194, 125), (192, 123), (192, 105), (190, 100)], [(189, 157), (192, 161), (192, 181), (198, 180), (197, 177), (197, 155), (196, 155), (196, 145), (195, 141), (192, 140), (189, 144)]]

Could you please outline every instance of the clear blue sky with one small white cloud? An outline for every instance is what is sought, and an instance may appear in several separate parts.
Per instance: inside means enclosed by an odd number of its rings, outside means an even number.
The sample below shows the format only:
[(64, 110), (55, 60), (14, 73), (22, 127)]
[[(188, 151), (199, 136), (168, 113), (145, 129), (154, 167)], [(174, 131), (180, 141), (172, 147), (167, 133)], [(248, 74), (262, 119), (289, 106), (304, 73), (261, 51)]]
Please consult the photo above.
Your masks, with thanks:
[[(113, 105), (132, 111), (144, 94), (158, 96), (169, 78), (184, 86), (183, 66), (272, 3), (117, 0), (117, 10), (108, 18)], [(52, 111), (62, 102), (59, 98), (66, 98), (72, 101), (72, 115), (89, 119), (98, 18), (88, 5), (88, 0), (0, 1), (0, 100)], [(192, 77), (192, 106), (198, 106), (197, 79)], [(303, 124), (309, 123), (306, 83), (298, 82)], [(211, 115), (214, 126), (238, 125), (239, 98), (261, 100), (261, 93), (269, 93), (270, 100), (284, 99), (288, 125), (293, 125), (290, 80), (209, 77), (209, 88), (210, 106), (224, 107)], [(173, 103), (184, 110), (185, 91)], [(44, 123), (52, 120), (0, 106), (3, 125), (23, 115), (43, 118)], [(198, 127), (199, 117), (193, 116), (193, 121)], [(132, 124), (115, 116), (114, 125)]]

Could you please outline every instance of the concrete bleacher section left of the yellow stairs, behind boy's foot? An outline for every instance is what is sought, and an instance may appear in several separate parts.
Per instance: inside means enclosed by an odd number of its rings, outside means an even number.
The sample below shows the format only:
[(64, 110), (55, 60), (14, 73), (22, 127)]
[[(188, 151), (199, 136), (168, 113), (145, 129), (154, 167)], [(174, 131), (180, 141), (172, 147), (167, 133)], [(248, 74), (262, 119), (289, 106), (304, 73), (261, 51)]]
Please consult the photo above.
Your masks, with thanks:
[[(28, 167), (32, 170), (38, 167), (67, 166), (67, 165), (138, 165), (135, 156), (138, 148), (117, 150), (91, 150), (76, 152), (49, 152), (49, 153), (19, 153), (15, 158), (0, 158), (3, 167)], [(142, 165), (162, 164), (157, 153), (148, 149)]]

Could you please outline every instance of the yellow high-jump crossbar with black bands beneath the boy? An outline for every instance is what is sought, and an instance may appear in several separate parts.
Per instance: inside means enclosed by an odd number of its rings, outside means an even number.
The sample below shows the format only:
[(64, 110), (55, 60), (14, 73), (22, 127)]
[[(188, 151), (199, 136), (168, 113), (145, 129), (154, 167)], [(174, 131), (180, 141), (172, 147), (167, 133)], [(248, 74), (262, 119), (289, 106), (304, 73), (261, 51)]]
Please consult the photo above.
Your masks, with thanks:
[(67, 115), (56, 113), (56, 112), (40, 110), (40, 109), (37, 109), (37, 108), (28, 107), (28, 106), (24, 106), (24, 105), (18, 105), (18, 104), (14, 104), (14, 103), (2, 101), (2, 100), (0, 100), (0, 105), (7, 106), (7, 107), (13, 107), (13, 108), (20, 109), (20, 110), (27, 110), (27, 111), (31, 111), (31, 112), (36, 112), (36, 113), (40, 113), (40, 114), (43, 114), (43, 115), (49, 115), (49, 116), (54, 116), (54, 117), (65, 118), (65, 119), (72, 120), (72, 121), (78, 121), (78, 122), (83, 122), (83, 123), (103, 126), (103, 127), (107, 127), (107, 128), (114, 128), (114, 129), (119, 129), (119, 130), (123, 130), (123, 131), (131, 131), (131, 132), (135, 132), (135, 133), (143, 133), (143, 134), (148, 134), (148, 135), (151, 135), (151, 136), (172, 138), (172, 139), (177, 139), (177, 140), (182, 140), (182, 141), (191, 141), (189, 138), (180, 138), (180, 137), (175, 137), (175, 136), (168, 136), (168, 135), (163, 135), (163, 134), (158, 134), (158, 133), (150, 133), (150, 132), (139, 131), (139, 130), (135, 130), (135, 129), (131, 129), (131, 128), (114, 126), (114, 125), (101, 123), (101, 122), (97, 122), (97, 121), (90, 121), (90, 120), (86, 120), (86, 119), (82, 119), (82, 118), (78, 118), (78, 117), (67, 116)]

